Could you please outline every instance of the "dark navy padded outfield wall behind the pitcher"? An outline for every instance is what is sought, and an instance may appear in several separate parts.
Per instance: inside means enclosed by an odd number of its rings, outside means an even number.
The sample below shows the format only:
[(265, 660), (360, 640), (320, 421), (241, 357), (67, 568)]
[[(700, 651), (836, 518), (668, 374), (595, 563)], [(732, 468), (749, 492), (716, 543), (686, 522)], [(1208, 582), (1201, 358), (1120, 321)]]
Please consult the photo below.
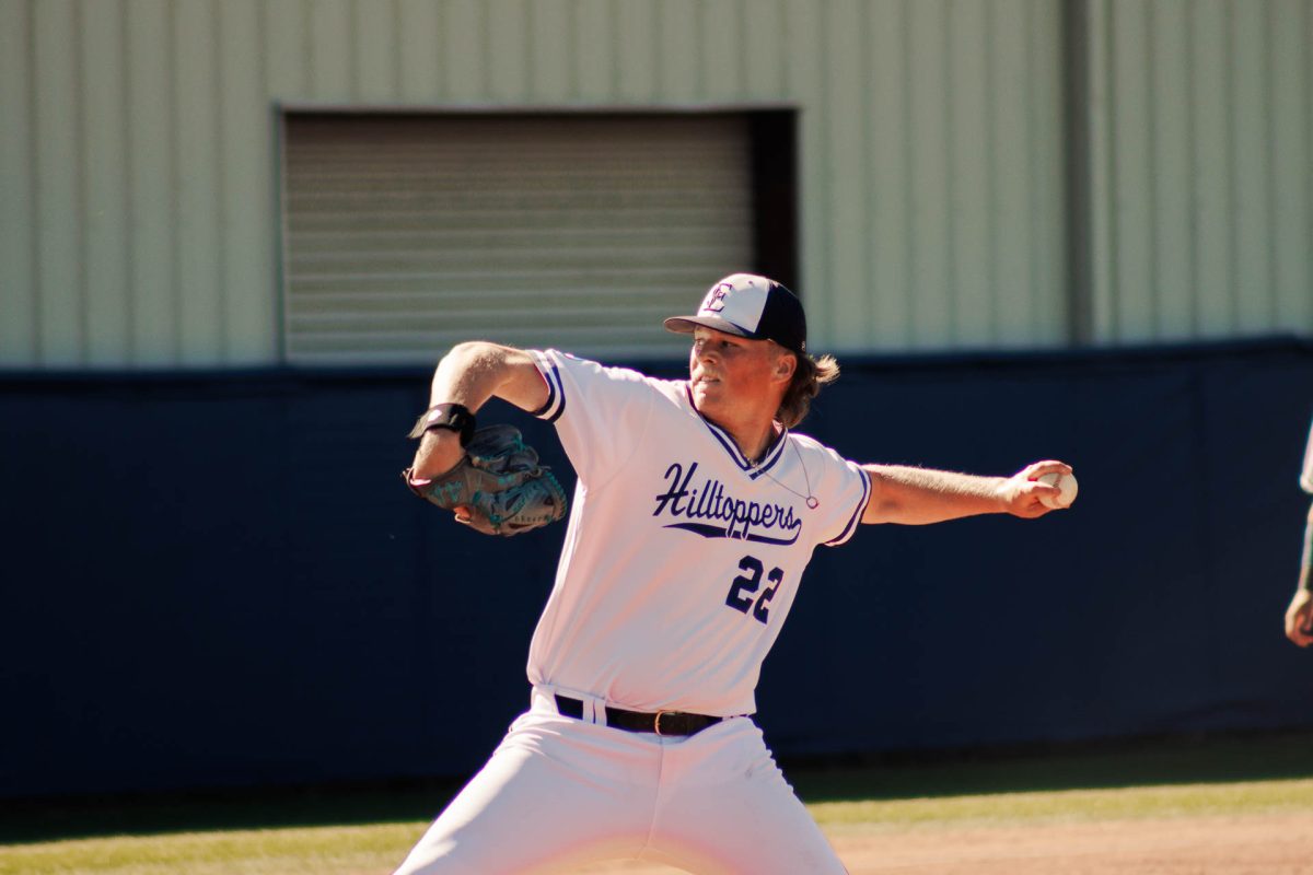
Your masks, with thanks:
[[(667, 371), (670, 374), (672, 371)], [(398, 472), (428, 374), (0, 376), (0, 795), (462, 777), (528, 703), (565, 533)], [(1281, 635), (1313, 345), (850, 359), (801, 429), (1073, 510), (819, 548), (759, 689), (781, 756), (1313, 725)], [(572, 485), (550, 426), (494, 403)]]

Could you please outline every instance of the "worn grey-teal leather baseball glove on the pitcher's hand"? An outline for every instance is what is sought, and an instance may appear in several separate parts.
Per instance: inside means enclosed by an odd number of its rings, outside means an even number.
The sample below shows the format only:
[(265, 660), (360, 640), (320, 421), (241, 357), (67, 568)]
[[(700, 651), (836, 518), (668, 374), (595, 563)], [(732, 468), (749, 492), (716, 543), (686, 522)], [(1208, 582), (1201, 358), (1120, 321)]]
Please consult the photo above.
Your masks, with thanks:
[(402, 476), (420, 499), (462, 510), (456, 518), (486, 535), (517, 535), (566, 516), (565, 489), (512, 425), (474, 432), (465, 458), (428, 483), (411, 483), (410, 468)]

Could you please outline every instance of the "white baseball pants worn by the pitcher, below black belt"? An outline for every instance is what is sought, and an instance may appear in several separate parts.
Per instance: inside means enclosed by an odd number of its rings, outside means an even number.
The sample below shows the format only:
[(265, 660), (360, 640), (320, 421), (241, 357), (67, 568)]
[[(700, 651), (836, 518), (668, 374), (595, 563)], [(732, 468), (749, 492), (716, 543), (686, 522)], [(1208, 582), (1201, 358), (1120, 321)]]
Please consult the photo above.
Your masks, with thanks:
[(586, 702), (584, 720), (561, 716), (536, 689), (397, 875), (569, 872), (601, 859), (700, 875), (846, 874), (751, 720), (662, 737), (587, 722), (599, 712)]

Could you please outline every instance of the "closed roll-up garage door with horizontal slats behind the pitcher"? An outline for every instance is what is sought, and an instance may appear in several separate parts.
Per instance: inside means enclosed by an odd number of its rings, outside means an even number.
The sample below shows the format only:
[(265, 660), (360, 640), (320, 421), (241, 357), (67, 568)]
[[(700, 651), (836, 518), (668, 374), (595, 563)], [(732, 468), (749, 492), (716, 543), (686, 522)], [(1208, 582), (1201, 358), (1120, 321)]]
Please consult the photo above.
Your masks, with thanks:
[(754, 262), (742, 115), (285, 118), (294, 363), (431, 365), (473, 338), (683, 357), (662, 317)]

